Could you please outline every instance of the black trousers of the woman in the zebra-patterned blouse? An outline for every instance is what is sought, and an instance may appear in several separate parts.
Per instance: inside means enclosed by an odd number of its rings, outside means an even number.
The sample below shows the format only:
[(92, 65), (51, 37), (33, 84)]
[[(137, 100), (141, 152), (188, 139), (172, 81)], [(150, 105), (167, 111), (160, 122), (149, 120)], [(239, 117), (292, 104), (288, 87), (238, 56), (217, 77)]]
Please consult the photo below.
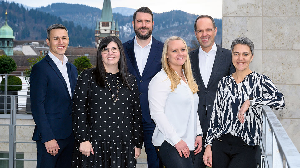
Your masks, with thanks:
[(225, 134), (212, 143), (213, 168), (256, 168), (259, 146), (247, 145), (242, 138)]

